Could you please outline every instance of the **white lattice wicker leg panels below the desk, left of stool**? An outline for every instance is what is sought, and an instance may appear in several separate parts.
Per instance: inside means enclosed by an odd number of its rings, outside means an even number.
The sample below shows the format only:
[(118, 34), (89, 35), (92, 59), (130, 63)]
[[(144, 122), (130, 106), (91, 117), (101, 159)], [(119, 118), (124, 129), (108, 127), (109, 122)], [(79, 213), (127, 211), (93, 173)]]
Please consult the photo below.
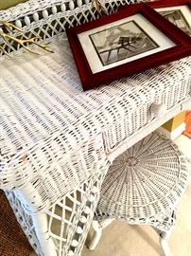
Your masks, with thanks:
[(107, 170), (106, 167), (100, 168), (89, 180), (58, 198), (43, 213), (28, 214), (23, 208), (23, 194), (7, 192), (17, 220), (39, 256), (80, 255)]

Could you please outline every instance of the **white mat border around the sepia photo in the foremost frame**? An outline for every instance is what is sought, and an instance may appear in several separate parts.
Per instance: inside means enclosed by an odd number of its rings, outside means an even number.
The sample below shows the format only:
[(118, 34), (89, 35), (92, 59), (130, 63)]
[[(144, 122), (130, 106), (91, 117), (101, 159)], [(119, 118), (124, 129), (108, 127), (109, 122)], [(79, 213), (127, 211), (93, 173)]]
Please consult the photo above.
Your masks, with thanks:
[[(117, 60), (116, 62), (113, 62), (111, 64), (109, 63), (104, 65), (99, 58), (100, 56), (98, 56), (97, 54), (96, 47), (93, 45), (91, 36), (93, 36), (96, 33), (101, 34), (103, 30), (110, 30), (110, 29), (113, 29), (113, 27), (123, 26), (124, 24), (127, 24), (129, 22), (135, 22), (138, 25), (138, 27), (141, 28), (141, 30), (146, 32), (146, 34), (150, 38), (150, 41), (153, 42), (153, 48), (150, 48), (145, 52), (139, 52), (138, 54), (134, 54), (133, 56), (125, 58), (123, 60)], [(165, 34), (160, 29), (152, 25), (152, 23), (149, 22), (148, 19), (140, 13), (137, 13), (127, 18), (123, 18), (121, 20), (117, 20), (113, 23), (110, 23), (104, 26), (96, 27), (96, 28), (87, 30), (85, 32), (79, 33), (78, 40), (80, 42), (80, 45), (82, 46), (82, 49), (84, 51), (84, 54), (91, 67), (93, 74), (110, 69), (112, 67), (115, 67), (121, 64), (130, 63), (137, 59), (141, 59), (148, 55), (176, 46), (174, 42), (172, 42), (167, 36), (165, 36)], [(100, 40), (100, 45), (103, 45), (103, 41), (104, 40), (106, 41), (106, 38), (103, 39), (100, 37), (99, 40)], [(133, 47), (131, 47), (130, 49), (135, 51)]]

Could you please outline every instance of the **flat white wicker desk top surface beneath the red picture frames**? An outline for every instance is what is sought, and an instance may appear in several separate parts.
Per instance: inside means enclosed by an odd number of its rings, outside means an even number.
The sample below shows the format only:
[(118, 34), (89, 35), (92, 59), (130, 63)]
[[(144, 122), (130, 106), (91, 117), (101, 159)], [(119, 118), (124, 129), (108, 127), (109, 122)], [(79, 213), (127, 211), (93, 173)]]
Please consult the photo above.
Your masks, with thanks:
[[(1, 162), (19, 164), (34, 147), (60, 137), (69, 154), (191, 74), (190, 58), (83, 92), (66, 40), (53, 40), (54, 54), (1, 63)], [(18, 162), (17, 162), (18, 160)], [(16, 163), (16, 162), (17, 163)]]

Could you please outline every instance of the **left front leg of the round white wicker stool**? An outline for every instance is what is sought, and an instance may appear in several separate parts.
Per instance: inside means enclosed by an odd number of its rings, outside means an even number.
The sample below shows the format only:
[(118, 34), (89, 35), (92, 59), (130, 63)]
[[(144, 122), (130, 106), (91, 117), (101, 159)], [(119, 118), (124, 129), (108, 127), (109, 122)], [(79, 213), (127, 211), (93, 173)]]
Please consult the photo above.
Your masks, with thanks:
[(107, 226), (109, 226), (114, 219), (106, 219), (102, 221), (93, 221), (92, 228), (94, 229), (94, 234), (91, 239), (90, 244), (88, 245), (88, 248), (90, 250), (94, 250), (101, 238), (102, 235), (102, 229), (105, 229)]

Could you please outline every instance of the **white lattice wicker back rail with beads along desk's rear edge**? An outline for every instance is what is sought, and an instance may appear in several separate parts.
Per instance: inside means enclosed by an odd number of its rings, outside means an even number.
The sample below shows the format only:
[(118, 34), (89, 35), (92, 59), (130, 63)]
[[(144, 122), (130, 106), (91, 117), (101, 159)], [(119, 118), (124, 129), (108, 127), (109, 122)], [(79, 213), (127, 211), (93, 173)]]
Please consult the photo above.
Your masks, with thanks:
[[(106, 0), (107, 13), (113, 13), (121, 4), (133, 4), (137, 0)], [(9, 10), (0, 10), (1, 20), (9, 20), (17, 27), (23, 28), (26, 33), (12, 31), (21, 39), (37, 36), (43, 39), (65, 32), (67, 27), (77, 26), (99, 18), (99, 14), (90, 0), (29, 0), (25, 4), (18, 5)], [(13, 41), (4, 42), (0, 39), (3, 50), (11, 53), (21, 46)], [(0, 54), (4, 52), (0, 50)]]

